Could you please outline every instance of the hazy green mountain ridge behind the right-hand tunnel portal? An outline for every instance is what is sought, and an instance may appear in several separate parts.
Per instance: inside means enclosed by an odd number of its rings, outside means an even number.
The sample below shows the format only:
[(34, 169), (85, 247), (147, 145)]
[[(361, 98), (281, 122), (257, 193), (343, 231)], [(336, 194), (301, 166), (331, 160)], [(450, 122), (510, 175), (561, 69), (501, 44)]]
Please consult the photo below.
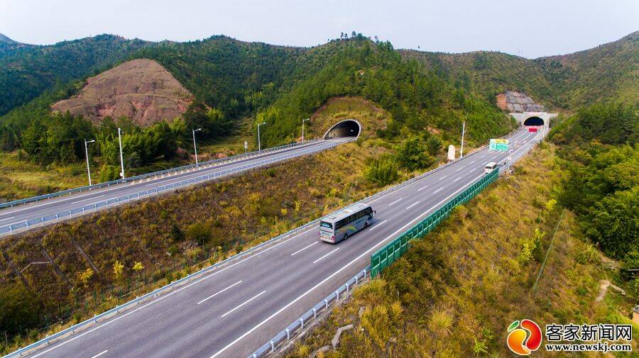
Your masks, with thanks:
[(565, 109), (600, 100), (639, 101), (639, 32), (589, 50), (535, 60), (488, 51), (401, 52), (488, 97), (506, 90), (523, 91)]

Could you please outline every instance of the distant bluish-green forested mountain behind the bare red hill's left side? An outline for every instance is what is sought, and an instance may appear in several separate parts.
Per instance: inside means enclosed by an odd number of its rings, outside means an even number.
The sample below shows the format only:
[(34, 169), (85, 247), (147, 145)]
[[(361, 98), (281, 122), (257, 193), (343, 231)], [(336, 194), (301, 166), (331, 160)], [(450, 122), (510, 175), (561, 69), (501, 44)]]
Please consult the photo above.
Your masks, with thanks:
[(19, 46), (0, 39), (0, 115), (73, 79), (98, 74), (149, 43), (114, 35)]

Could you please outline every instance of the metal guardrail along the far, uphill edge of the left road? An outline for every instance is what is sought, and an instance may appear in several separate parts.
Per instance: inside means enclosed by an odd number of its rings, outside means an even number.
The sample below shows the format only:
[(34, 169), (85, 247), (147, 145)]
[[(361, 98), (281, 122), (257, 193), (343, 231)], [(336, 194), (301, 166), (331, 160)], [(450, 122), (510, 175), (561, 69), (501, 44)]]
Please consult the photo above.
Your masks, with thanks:
[(105, 181), (104, 183), (87, 185), (87, 186), (80, 186), (79, 188), (56, 191), (55, 193), (43, 194), (43, 195), (39, 195), (39, 196), (32, 196), (31, 198), (23, 198), (23, 199), (14, 200), (14, 201), (8, 201), (6, 203), (0, 203), (0, 209), (1, 208), (13, 207), (13, 206), (21, 205), (21, 204), (24, 204), (24, 203), (33, 203), (35, 201), (41, 201), (41, 200), (45, 200), (45, 199), (48, 199), (48, 198), (57, 198), (59, 196), (64, 196), (64, 195), (67, 195), (67, 194), (80, 193), (82, 191), (87, 191), (87, 190), (102, 189), (104, 187), (108, 187), (108, 186), (115, 185), (115, 184), (128, 183), (130, 181), (146, 179), (146, 178), (149, 178), (149, 177), (158, 177), (160, 175), (170, 174), (170, 173), (173, 173), (173, 172), (180, 172), (182, 170), (188, 170), (188, 169), (198, 168), (198, 167), (206, 167), (207, 165), (217, 164), (217, 163), (220, 163), (220, 162), (227, 162), (227, 161), (233, 162), (235, 160), (240, 160), (240, 159), (244, 159), (244, 158), (258, 157), (260, 155), (264, 155), (265, 153), (276, 152), (278, 150), (284, 150), (284, 149), (288, 149), (290, 147), (308, 145), (310, 143), (318, 142), (318, 141), (320, 141), (320, 140), (319, 139), (307, 140), (307, 141), (305, 141), (303, 143), (295, 142), (295, 143), (290, 143), (290, 144), (287, 144), (287, 145), (280, 145), (279, 147), (268, 148), (268, 149), (262, 150), (261, 152), (248, 152), (248, 153), (243, 153), (243, 154), (239, 154), (239, 155), (234, 155), (232, 157), (225, 157), (225, 158), (219, 158), (219, 159), (215, 159), (215, 160), (209, 160), (207, 162), (200, 162), (198, 164), (188, 164), (188, 165), (184, 165), (182, 167), (175, 167), (175, 168), (160, 170), (159, 172), (140, 174), (140, 175), (136, 175), (135, 177), (129, 177), (129, 178), (125, 178), (125, 179), (116, 179), (116, 180), (112, 180), (112, 181)]

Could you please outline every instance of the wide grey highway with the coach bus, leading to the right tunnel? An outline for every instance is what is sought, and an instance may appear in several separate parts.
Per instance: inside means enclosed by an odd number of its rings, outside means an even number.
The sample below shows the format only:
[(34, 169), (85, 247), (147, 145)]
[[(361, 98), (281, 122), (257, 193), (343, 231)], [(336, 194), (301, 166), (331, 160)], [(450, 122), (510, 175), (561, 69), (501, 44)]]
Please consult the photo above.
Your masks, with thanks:
[(541, 133), (518, 130), (512, 150), (482, 150), (370, 201), (369, 228), (339, 242), (318, 229), (202, 276), (27, 357), (246, 357), (370, 262), (370, 255), (484, 175), (487, 162), (515, 162)]

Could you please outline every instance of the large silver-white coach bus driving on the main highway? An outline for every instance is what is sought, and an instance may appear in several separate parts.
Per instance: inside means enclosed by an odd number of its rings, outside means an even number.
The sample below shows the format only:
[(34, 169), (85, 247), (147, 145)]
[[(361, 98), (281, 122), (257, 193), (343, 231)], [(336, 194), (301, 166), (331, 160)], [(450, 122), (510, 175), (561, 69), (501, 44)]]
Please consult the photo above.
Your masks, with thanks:
[(373, 208), (356, 203), (320, 220), (320, 240), (340, 242), (373, 222)]

